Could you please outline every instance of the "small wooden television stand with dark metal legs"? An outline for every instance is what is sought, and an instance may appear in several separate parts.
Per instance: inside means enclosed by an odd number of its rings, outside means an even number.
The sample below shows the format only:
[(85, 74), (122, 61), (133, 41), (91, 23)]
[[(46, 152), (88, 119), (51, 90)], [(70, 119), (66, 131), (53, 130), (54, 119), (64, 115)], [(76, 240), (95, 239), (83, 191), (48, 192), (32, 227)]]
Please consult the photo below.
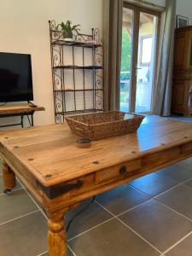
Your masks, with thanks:
[[(0, 118), (5, 117), (13, 117), (13, 116), (20, 116), (20, 123), (11, 124), (11, 125), (0, 125), (0, 127), (7, 127), (7, 126), (15, 126), (21, 125), (23, 127), (23, 118), (27, 116), (29, 125), (33, 126), (33, 113), (36, 111), (44, 111), (44, 107), (31, 107), (29, 105), (4, 105), (0, 107)], [(31, 120), (29, 119), (31, 116)]]

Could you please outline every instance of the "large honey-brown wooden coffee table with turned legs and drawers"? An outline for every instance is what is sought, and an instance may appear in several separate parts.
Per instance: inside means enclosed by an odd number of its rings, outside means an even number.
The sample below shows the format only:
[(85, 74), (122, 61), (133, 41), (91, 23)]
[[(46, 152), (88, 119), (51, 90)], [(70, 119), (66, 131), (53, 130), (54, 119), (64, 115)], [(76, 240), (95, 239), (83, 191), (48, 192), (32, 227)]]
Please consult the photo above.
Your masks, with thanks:
[(192, 155), (192, 124), (171, 119), (78, 148), (66, 124), (0, 133), (6, 189), (15, 175), (48, 216), (49, 256), (67, 256), (63, 216), (94, 195)]

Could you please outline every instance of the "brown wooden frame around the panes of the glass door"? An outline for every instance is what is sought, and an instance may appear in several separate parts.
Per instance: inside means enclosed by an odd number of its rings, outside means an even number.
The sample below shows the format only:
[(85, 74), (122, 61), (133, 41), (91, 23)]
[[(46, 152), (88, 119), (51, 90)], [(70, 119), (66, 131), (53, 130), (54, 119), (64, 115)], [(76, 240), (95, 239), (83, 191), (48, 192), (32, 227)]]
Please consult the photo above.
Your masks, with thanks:
[[(123, 7), (127, 9), (133, 10), (133, 33), (131, 35), (131, 86), (130, 86), (130, 112), (135, 112), (136, 107), (136, 93), (137, 93), (137, 59), (138, 59), (138, 44), (139, 44), (139, 23), (140, 23), (140, 13), (146, 13), (148, 15), (154, 15), (157, 17), (157, 24), (156, 24), (156, 42), (155, 42), (155, 49), (154, 49), (154, 79), (153, 79), (153, 90), (152, 90), (152, 102), (151, 106), (154, 105), (154, 88), (156, 87), (157, 83), (157, 69), (158, 69), (158, 56), (160, 51), (160, 17), (161, 13), (152, 9), (147, 9), (144, 7), (139, 7), (137, 5), (127, 3), (124, 1)], [(145, 112), (147, 113), (147, 112)], [(152, 113), (152, 111), (148, 112)]]

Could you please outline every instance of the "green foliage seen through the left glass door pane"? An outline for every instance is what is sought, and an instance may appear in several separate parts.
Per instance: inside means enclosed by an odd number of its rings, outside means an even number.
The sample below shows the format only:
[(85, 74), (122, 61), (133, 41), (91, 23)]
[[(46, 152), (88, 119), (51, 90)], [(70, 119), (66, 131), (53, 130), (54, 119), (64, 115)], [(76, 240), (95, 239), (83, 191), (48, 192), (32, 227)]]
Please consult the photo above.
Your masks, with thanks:
[[(125, 27), (122, 31), (122, 52), (121, 52), (121, 80), (130, 79), (131, 70), (131, 38)], [(125, 73), (124, 73), (125, 72)]]

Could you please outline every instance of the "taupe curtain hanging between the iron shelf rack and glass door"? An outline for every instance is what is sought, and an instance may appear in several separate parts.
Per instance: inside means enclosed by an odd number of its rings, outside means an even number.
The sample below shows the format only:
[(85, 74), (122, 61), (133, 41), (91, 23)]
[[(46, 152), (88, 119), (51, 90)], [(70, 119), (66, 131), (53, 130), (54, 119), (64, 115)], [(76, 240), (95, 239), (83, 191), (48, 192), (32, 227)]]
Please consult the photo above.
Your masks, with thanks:
[(103, 1), (104, 107), (119, 109), (123, 0)]

